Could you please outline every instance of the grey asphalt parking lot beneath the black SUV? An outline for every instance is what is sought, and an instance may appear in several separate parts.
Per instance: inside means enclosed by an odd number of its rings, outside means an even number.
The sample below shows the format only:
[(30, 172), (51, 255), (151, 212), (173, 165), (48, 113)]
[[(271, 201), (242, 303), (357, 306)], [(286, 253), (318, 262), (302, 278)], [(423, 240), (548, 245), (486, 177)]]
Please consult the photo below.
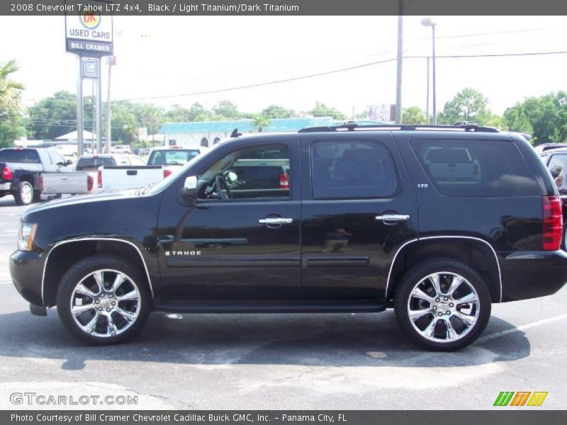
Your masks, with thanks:
[[(500, 391), (567, 405), (567, 290), (493, 306), (480, 340), (430, 353), (380, 314), (152, 314), (134, 341), (84, 346), (10, 280), (24, 207), (0, 199), (0, 409), (13, 392), (136, 395), (113, 409), (494, 409)], [(534, 282), (537, 285), (537, 282)], [(92, 406), (91, 406), (92, 407)], [(500, 407), (499, 409), (503, 409)]]

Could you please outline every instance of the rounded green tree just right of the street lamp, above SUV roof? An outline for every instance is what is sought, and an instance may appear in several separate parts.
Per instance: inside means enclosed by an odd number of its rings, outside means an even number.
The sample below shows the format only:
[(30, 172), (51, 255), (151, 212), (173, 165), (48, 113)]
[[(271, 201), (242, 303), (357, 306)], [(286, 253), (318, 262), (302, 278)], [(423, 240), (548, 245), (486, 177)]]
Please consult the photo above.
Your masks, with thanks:
[(445, 103), (442, 113), (439, 113), (439, 124), (453, 124), (457, 121), (475, 121), (484, 125), (488, 118), (488, 99), (483, 94), (471, 88), (466, 88)]

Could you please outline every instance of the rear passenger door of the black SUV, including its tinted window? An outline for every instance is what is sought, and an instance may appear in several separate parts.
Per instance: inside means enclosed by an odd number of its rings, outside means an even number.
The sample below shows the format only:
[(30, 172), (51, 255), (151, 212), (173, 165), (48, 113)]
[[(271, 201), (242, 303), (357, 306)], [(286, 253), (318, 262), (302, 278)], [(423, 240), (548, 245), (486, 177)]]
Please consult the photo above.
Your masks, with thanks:
[(390, 133), (301, 135), (303, 296), (377, 300), (417, 238), (417, 203)]

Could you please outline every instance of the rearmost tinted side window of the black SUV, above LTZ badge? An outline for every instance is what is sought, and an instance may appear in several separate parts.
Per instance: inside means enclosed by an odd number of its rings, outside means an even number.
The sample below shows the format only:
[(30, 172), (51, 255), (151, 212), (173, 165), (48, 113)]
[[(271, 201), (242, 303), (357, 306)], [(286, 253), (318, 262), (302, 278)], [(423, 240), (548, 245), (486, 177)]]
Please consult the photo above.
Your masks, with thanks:
[(444, 196), (541, 196), (512, 141), (412, 140), (417, 159)]

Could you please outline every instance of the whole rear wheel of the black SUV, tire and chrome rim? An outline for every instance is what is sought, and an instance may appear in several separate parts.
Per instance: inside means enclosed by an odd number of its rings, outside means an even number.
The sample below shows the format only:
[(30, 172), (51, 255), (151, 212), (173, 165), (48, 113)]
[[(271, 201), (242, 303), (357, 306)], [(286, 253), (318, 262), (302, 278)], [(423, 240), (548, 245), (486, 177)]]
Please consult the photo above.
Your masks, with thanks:
[(481, 335), (490, 319), (490, 293), (471, 267), (451, 259), (417, 264), (395, 294), (395, 314), (415, 344), (454, 351)]

